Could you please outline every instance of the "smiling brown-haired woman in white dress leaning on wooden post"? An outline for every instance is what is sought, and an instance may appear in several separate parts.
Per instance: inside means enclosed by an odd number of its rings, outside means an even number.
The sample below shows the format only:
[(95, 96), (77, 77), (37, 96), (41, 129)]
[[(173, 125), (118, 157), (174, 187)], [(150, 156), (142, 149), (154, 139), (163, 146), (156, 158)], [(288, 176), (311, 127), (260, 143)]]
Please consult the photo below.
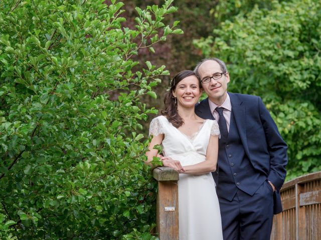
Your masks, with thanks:
[(218, 155), (219, 126), (202, 119), (194, 105), (202, 94), (201, 83), (191, 70), (179, 72), (165, 97), (163, 115), (150, 122), (152, 139), (147, 162), (161, 156), (153, 146), (162, 144), (164, 166), (180, 173), (180, 240), (223, 239), (214, 171)]

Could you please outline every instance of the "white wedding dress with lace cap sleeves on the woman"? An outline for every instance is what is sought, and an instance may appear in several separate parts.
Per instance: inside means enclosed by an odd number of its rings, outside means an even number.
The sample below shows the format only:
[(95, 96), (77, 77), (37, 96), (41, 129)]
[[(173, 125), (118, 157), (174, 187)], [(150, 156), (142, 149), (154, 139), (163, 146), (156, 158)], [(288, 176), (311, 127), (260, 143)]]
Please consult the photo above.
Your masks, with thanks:
[[(183, 166), (205, 161), (210, 135), (219, 135), (215, 120), (204, 120), (200, 130), (189, 137), (172, 125), (165, 116), (150, 122), (149, 135), (164, 133), (163, 153)], [(179, 180), (180, 240), (223, 239), (219, 201), (211, 173), (180, 173)]]

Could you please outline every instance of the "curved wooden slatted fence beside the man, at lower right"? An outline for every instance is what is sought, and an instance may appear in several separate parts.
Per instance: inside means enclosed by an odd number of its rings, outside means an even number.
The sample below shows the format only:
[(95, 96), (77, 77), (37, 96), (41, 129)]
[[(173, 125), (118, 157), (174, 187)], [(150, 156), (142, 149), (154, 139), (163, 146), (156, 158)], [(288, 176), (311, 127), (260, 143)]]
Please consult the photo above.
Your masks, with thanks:
[(271, 240), (321, 239), (321, 171), (284, 183), (283, 211), (273, 217)]

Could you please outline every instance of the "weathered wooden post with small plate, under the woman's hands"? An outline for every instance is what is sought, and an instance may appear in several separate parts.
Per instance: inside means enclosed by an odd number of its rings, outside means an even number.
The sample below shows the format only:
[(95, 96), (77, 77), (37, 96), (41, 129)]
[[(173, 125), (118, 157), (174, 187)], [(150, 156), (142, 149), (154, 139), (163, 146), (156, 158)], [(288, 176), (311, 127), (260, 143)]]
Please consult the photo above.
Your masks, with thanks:
[(160, 240), (179, 240), (179, 173), (171, 167), (156, 167), (158, 181), (156, 224)]

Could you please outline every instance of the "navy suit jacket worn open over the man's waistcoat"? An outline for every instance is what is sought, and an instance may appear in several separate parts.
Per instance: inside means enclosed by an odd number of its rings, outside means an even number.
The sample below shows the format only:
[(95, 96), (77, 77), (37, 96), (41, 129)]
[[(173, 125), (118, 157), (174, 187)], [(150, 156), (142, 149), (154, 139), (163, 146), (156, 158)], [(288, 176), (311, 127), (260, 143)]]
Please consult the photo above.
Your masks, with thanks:
[[(274, 192), (274, 213), (282, 211), (281, 188), (287, 164), (287, 145), (282, 139), (270, 113), (259, 96), (228, 92), (236, 126), (252, 166), (266, 175), (276, 187)], [(209, 99), (196, 104), (195, 112), (205, 119), (214, 119)]]

